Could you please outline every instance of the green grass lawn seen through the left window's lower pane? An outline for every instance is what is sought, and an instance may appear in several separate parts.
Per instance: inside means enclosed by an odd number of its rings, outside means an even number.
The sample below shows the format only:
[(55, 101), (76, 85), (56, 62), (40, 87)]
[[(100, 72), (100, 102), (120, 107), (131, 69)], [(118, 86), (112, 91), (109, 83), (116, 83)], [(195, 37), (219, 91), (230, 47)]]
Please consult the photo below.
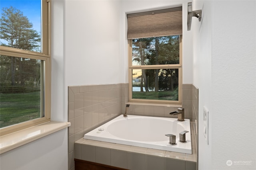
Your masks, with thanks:
[(40, 92), (0, 94), (0, 128), (40, 117)]

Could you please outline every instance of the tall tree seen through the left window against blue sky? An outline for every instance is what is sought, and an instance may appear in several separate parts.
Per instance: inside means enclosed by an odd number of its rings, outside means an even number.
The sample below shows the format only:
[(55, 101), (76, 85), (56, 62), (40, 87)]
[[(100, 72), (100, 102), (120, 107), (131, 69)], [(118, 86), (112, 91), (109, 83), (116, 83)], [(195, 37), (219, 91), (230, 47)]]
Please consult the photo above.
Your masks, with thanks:
[[(32, 29), (33, 24), (28, 20), (28, 18), (24, 16), (20, 10), (17, 10), (12, 6), (10, 8), (2, 9), (3, 13), (0, 18), (0, 39), (4, 39), (7, 43), (1, 42), (1, 45), (16, 49), (40, 52), (40, 34), (36, 30)], [(2, 57), (3, 56), (1, 56), (1, 58)], [(36, 68), (31, 69), (28, 66), (31, 67), (38, 65), (38, 61), (36, 60), (21, 57), (7, 57), (5, 59), (1, 59), (1, 61), (3, 60), (5, 64), (10, 64), (10, 66), (1, 67), (1, 72), (3, 69), (4, 72), (6, 72), (6, 76), (3, 78), (5, 78), (6, 81), (9, 79), (12, 86), (14, 86), (16, 82), (19, 82), (20, 85), (24, 85), (26, 78), (28, 78), (28, 75), (26, 75), (27, 71), (36, 70)], [(7, 78), (8, 76), (10, 76), (10, 78)], [(3, 82), (2, 76), (1, 82)]]

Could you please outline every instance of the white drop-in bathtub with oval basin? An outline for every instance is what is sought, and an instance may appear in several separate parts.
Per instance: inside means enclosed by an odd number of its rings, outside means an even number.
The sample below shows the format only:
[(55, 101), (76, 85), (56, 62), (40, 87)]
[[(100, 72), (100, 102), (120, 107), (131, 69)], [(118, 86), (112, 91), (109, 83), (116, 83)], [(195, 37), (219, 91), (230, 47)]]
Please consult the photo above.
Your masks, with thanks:
[[(185, 130), (189, 131), (186, 143), (181, 143), (179, 133)], [(84, 139), (192, 154), (190, 133), (189, 119), (120, 115), (86, 133)], [(166, 134), (176, 135), (177, 145), (170, 145)]]

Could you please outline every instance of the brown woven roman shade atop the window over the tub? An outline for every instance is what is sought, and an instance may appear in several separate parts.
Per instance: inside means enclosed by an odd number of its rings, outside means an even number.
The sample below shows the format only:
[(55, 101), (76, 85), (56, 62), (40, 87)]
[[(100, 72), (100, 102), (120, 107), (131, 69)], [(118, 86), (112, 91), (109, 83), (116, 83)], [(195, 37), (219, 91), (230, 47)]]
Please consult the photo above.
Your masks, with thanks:
[(128, 39), (182, 34), (182, 7), (127, 14)]

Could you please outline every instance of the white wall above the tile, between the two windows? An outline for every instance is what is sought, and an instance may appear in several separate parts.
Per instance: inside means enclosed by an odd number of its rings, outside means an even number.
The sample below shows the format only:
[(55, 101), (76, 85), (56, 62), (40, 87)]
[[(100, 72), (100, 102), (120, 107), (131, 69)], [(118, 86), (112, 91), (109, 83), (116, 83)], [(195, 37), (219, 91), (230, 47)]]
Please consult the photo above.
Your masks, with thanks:
[(121, 82), (119, 8), (120, 1), (66, 1), (66, 85)]

